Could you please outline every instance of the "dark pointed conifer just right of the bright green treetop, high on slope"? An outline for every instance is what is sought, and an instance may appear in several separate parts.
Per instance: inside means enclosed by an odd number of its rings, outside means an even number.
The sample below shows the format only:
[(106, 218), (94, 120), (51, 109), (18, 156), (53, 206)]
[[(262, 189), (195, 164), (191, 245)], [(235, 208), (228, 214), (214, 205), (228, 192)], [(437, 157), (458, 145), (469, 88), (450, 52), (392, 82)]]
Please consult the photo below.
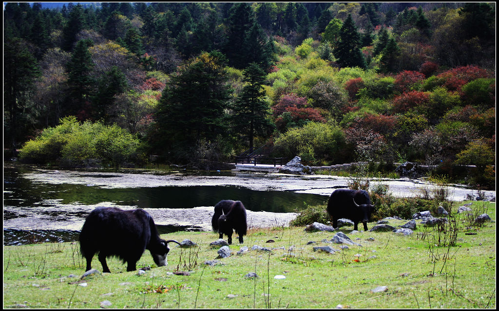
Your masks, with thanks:
[(348, 17), (341, 26), (339, 38), (337, 47), (334, 50), (334, 57), (338, 59), (338, 63), (342, 67), (358, 66), (365, 68), (365, 59), (360, 51), (360, 34), (357, 32), (357, 27), (351, 14), (348, 14)]

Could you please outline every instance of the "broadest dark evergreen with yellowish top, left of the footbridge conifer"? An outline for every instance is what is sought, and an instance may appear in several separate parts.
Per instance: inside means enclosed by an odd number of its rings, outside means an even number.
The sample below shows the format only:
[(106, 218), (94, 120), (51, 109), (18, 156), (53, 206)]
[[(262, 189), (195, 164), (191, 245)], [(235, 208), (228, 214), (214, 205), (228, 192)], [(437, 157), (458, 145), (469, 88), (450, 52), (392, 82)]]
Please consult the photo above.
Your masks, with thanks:
[(202, 53), (188, 61), (167, 83), (158, 104), (157, 137), (152, 144), (159, 150), (181, 147), (186, 150), (202, 139), (226, 136), (225, 109), (231, 87), (224, 56)]

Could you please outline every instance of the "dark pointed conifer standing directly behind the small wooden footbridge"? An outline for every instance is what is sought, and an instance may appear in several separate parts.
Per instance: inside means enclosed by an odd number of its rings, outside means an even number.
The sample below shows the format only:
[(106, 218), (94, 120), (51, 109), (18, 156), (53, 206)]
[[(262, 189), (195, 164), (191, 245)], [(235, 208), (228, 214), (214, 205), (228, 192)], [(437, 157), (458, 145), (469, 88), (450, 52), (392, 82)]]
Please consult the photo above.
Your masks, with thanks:
[(243, 91), (232, 107), (232, 121), (236, 134), (242, 135), (249, 142), (249, 149), (253, 148), (255, 136), (269, 135), (274, 129), (271, 122), (270, 107), (265, 100), (263, 84), (266, 74), (260, 66), (251, 63), (244, 70)]

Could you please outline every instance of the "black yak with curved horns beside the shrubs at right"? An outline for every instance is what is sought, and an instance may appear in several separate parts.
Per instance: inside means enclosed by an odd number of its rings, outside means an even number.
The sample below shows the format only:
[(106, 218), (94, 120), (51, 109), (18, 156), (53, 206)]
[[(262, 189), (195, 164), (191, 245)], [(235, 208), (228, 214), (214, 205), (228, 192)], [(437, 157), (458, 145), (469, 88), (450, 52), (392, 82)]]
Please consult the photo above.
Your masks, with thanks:
[(337, 228), (338, 219), (347, 218), (353, 221), (354, 230), (362, 222), (364, 231), (367, 231), (367, 222), (373, 211), (374, 205), (371, 205), (371, 198), (365, 190), (336, 189), (327, 202), (327, 213), (333, 218), (334, 228)]

